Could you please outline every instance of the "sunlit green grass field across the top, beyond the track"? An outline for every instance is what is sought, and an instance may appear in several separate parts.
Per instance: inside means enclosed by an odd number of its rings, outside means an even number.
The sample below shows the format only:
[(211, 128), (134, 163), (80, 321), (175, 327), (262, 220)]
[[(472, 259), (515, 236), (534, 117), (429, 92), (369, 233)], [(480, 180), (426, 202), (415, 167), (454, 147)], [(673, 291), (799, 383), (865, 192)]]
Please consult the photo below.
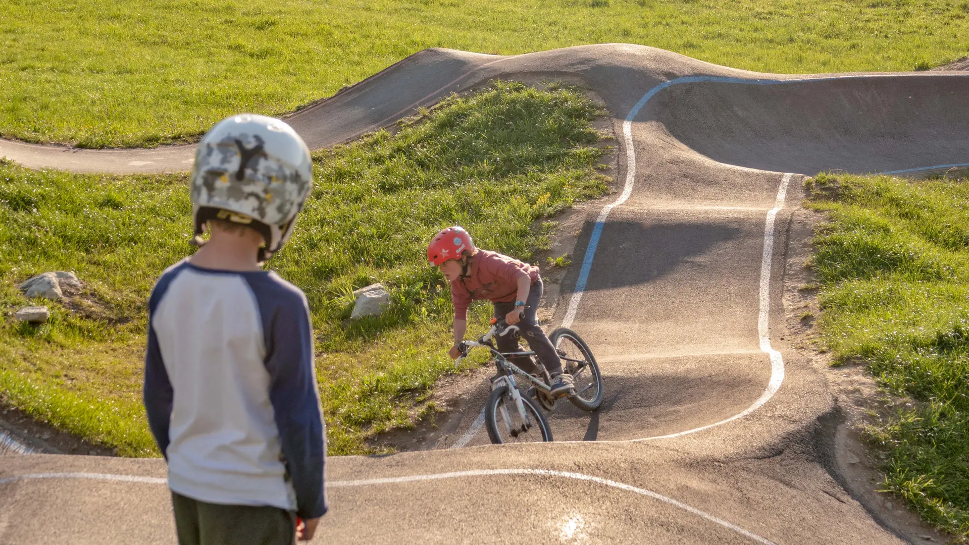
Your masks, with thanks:
[(779, 73), (969, 53), (967, 0), (0, 0), (0, 14), (0, 135), (84, 147), (293, 111), (425, 47), (632, 43)]

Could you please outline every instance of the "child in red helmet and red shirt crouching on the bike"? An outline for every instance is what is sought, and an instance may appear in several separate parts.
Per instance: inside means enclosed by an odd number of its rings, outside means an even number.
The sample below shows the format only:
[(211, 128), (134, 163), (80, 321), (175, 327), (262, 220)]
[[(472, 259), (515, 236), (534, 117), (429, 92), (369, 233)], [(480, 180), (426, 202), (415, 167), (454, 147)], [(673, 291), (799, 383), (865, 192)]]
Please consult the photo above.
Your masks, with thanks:
[[(458, 344), (467, 330), (468, 305), (474, 300), (488, 299), (494, 304), (494, 317), (508, 325), (517, 325), (519, 332), (535, 351), (551, 377), (553, 397), (561, 397), (574, 389), (571, 375), (562, 371), (562, 360), (538, 324), (536, 313), (545, 288), (539, 267), (523, 263), (513, 257), (476, 248), (471, 235), (462, 227), (448, 227), (434, 236), (427, 247), (427, 259), (441, 268), (451, 283), (454, 305), (454, 346), (448, 351), (452, 359), (460, 355)], [(518, 342), (511, 335), (495, 338), (501, 352), (518, 351)], [(527, 358), (509, 358), (522, 369), (531, 367)]]

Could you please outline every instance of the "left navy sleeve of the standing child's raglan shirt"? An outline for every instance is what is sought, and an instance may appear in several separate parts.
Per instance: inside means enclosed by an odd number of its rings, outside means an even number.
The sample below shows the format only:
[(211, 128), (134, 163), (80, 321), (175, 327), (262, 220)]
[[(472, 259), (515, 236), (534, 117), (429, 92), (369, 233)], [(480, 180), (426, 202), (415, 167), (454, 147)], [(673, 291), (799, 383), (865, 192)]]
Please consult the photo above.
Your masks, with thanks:
[(144, 388), (141, 393), (144, 411), (148, 416), (148, 427), (151, 428), (151, 435), (155, 436), (155, 442), (158, 443), (158, 448), (166, 460), (169, 458), (166, 451), (169, 448), (169, 426), (172, 422), (174, 393), (151, 320), (172, 279), (177, 276), (180, 269), (181, 267), (176, 265), (166, 271), (158, 279), (158, 284), (155, 285), (148, 300), (148, 349), (144, 354)]

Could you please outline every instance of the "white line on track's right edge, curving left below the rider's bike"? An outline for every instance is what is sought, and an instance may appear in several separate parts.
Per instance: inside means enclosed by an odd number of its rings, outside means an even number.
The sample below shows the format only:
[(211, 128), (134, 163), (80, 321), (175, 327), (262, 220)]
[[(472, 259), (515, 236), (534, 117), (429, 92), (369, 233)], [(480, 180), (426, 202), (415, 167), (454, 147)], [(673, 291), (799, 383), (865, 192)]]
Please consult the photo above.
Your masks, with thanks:
[(764, 255), (761, 257), (760, 310), (757, 319), (757, 333), (761, 338), (761, 350), (765, 351), (770, 356), (770, 381), (767, 382), (766, 390), (764, 390), (764, 393), (761, 394), (761, 397), (755, 401), (753, 405), (747, 409), (743, 409), (742, 412), (738, 412), (726, 420), (721, 420), (713, 424), (707, 424), (700, 428), (694, 428), (692, 430), (686, 430), (685, 432), (679, 432), (667, 436), (656, 436), (652, 438), (633, 440), (678, 438), (689, 434), (695, 434), (714, 426), (726, 424), (727, 422), (732, 422), (737, 418), (743, 418), (751, 412), (760, 409), (781, 387), (781, 383), (784, 381), (784, 357), (781, 356), (779, 351), (770, 347), (770, 267), (773, 263), (774, 255), (774, 220), (777, 217), (777, 212), (780, 212), (781, 208), (784, 208), (784, 197), (787, 197), (787, 188), (788, 184), (791, 182), (791, 176), (792, 174), (790, 173), (784, 174), (784, 177), (781, 179), (781, 187), (777, 190), (777, 199), (774, 202), (774, 207), (767, 212), (767, 221), (764, 227)]

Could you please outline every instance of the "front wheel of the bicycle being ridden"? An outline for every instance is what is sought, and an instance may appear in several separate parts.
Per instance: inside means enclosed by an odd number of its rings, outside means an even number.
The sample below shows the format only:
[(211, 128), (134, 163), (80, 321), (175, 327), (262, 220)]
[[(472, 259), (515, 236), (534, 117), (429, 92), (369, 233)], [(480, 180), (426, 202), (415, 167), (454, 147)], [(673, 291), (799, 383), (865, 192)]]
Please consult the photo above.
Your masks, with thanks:
[(551, 440), (551, 428), (542, 410), (531, 399), (520, 396), (516, 404), (507, 385), (491, 391), (485, 406), (487, 437), (495, 444)]

